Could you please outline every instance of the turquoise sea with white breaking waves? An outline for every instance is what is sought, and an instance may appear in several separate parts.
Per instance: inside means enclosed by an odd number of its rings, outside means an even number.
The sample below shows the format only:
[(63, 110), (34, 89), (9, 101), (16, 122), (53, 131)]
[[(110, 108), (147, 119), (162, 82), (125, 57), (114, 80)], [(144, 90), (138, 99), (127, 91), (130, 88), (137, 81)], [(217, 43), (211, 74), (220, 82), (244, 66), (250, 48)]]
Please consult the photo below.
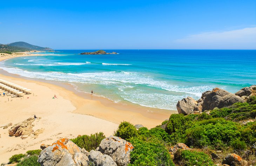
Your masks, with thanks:
[(236, 92), (256, 84), (256, 50), (57, 50), (0, 63), (9, 73), (71, 83), (115, 102), (176, 110), (178, 100), (215, 87)]

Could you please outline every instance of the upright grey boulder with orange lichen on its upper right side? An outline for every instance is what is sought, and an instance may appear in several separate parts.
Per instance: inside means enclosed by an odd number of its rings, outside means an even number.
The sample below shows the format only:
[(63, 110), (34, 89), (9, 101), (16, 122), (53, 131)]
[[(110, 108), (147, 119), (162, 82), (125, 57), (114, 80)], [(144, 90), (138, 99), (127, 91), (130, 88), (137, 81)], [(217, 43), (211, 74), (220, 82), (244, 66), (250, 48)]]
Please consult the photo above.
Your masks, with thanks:
[(130, 152), (133, 148), (133, 145), (126, 140), (111, 135), (102, 139), (99, 151), (112, 157), (117, 166), (127, 166), (130, 163)]

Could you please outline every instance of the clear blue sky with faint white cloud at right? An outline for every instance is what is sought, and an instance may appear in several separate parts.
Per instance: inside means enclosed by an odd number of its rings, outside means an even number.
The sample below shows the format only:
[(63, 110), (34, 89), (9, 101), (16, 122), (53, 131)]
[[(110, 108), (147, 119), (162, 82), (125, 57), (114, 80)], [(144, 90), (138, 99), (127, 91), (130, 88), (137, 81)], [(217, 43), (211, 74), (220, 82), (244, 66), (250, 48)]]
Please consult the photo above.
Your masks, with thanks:
[(0, 43), (60, 49), (256, 49), (255, 0), (12, 0)]

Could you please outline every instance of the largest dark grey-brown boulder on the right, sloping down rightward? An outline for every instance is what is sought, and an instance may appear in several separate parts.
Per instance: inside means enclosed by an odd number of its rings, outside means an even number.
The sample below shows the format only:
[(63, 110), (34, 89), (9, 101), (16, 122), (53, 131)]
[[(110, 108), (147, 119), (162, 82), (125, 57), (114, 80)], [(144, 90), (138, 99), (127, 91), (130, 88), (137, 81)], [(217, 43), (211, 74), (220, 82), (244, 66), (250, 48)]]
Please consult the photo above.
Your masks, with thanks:
[(213, 110), (215, 107), (228, 107), (237, 102), (244, 102), (244, 99), (241, 97), (220, 88), (214, 88), (212, 91), (203, 93), (202, 98), (204, 98), (202, 111)]

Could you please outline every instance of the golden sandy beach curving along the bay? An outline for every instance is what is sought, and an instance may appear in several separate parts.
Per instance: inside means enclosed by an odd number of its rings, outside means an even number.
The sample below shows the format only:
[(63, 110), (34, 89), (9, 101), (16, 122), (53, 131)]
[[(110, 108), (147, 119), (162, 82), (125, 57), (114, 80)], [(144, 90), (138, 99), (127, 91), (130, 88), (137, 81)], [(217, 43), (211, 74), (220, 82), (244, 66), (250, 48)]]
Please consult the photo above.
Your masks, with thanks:
[[(35, 56), (35, 54), (5, 54), (0, 56), (0, 61), (18, 56)], [(7, 162), (13, 154), (40, 149), (41, 144), (52, 144), (61, 137), (74, 138), (96, 132), (103, 132), (106, 136), (112, 135), (122, 121), (152, 128), (160, 125), (171, 113), (176, 112), (132, 104), (116, 104), (106, 98), (75, 92), (69, 84), (25, 79), (4, 71), (0, 74), (0, 78), (32, 90), (32, 94), (19, 98), (0, 97), (0, 126), (10, 122), (14, 125), (36, 115), (41, 119), (38, 118), (33, 122), (33, 130), (43, 129), (43, 133), (37, 138), (29, 136), (21, 139), (9, 136), (8, 130), (11, 127), (0, 128), (0, 163)], [(54, 95), (57, 98), (53, 99)]]

